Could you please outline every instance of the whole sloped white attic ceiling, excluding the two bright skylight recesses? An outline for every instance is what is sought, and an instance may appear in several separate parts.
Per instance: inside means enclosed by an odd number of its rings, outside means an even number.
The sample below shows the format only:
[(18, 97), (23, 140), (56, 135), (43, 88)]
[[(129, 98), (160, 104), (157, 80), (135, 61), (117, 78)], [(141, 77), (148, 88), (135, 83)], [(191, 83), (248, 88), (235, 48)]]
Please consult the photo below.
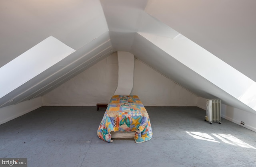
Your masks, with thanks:
[(254, 0), (1, 0), (0, 67), (51, 35), (76, 51), (0, 98), (0, 107), (42, 96), (114, 51), (128, 51), (198, 96), (255, 112), (138, 33), (181, 33), (256, 81), (255, 7)]

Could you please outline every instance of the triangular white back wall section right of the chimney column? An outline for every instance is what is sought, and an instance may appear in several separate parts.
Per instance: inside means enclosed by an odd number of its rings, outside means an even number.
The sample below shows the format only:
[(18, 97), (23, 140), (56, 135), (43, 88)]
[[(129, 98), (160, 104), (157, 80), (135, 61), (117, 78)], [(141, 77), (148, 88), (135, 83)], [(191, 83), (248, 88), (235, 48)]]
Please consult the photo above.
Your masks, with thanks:
[(144, 106), (196, 106), (197, 96), (135, 59), (134, 86)]

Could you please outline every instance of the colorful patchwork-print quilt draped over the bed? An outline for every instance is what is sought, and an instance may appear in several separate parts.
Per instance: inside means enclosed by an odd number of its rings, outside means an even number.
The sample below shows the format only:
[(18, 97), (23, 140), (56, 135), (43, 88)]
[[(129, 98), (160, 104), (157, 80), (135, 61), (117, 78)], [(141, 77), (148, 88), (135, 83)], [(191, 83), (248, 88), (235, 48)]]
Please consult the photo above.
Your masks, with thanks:
[(152, 138), (148, 112), (138, 96), (112, 96), (100, 122), (97, 135), (112, 142), (110, 132), (135, 132), (135, 142), (141, 143)]

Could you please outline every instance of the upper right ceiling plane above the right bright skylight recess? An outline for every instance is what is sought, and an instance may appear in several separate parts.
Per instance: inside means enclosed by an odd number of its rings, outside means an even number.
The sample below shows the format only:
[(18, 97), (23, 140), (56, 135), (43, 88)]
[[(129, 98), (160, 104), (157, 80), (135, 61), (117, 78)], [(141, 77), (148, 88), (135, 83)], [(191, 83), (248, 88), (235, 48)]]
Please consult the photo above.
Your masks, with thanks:
[(149, 0), (145, 11), (256, 81), (255, 7), (255, 0)]

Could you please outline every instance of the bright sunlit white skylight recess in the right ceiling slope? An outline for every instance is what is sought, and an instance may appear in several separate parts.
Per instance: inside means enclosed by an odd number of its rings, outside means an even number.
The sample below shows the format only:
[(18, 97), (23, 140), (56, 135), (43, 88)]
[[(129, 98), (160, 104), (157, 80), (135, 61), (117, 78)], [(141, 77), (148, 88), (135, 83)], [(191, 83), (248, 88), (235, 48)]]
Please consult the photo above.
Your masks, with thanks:
[[(170, 29), (173, 31), (173, 29)], [(256, 111), (256, 83), (183, 35), (138, 32), (148, 41)]]

